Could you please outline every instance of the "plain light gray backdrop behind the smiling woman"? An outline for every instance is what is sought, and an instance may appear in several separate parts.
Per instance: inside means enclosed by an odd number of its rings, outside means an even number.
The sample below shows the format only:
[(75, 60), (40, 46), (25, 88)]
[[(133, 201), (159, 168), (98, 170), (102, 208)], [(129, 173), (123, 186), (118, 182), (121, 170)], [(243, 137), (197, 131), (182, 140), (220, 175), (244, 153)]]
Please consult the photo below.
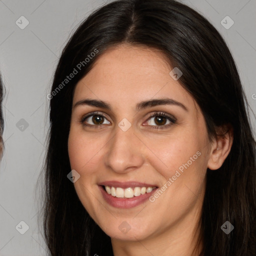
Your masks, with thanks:
[[(182, 2), (203, 14), (225, 38), (248, 102), (256, 112), (256, 2)], [(40, 197), (35, 190), (48, 129), (46, 94), (69, 34), (102, 4), (103, 0), (0, 0), (0, 71), (6, 88), (5, 151), (0, 163), (0, 255), (46, 255), (37, 223)], [(227, 15), (234, 21), (229, 29), (220, 23)], [(20, 16), (29, 21), (24, 29), (15, 23), (20, 22)], [(228, 19), (222, 22), (230, 24)], [(255, 119), (251, 116), (255, 130)], [(24, 234), (17, 231), (25, 230), (20, 221), (29, 226)]]

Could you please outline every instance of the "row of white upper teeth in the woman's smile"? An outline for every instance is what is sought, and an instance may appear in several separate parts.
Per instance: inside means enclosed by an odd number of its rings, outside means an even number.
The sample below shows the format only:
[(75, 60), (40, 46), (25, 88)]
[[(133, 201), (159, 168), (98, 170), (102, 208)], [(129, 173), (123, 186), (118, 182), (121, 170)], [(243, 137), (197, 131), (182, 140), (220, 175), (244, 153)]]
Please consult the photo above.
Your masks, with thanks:
[(127, 187), (125, 189), (121, 187), (113, 187), (113, 186), (105, 186), (105, 190), (108, 194), (111, 194), (112, 196), (119, 197), (119, 198), (131, 198), (133, 196), (139, 196), (140, 194), (144, 193), (150, 193), (156, 186), (151, 187), (139, 187), (136, 186), (134, 188), (132, 187)]

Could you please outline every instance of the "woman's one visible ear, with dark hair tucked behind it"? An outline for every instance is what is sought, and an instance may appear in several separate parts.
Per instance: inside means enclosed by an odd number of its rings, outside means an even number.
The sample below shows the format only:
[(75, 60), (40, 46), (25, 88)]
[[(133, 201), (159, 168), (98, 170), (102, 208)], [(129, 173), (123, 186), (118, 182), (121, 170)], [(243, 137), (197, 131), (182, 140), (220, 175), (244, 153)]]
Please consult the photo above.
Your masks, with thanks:
[(217, 131), (218, 133), (212, 142), (207, 165), (211, 170), (216, 170), (223, 164), (233, 143), (233, 128), (231, 125), (218, 127)]

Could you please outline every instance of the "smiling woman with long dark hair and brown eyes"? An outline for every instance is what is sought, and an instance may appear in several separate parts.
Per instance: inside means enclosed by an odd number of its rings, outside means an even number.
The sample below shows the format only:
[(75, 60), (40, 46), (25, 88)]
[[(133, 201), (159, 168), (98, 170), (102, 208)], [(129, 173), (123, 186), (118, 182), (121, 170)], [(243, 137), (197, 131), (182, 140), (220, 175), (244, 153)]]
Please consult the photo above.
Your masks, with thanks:
[(102, 6), (47, 98), (50, 255), (256, 255), (247, 101), (200, 14), (174, 0)]

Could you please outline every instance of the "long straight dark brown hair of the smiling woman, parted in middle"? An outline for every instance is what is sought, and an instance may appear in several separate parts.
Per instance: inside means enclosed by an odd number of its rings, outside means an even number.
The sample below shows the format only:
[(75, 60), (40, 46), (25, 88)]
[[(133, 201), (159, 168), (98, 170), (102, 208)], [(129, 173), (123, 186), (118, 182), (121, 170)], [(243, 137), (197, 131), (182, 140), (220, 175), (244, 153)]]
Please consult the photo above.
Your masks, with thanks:
[[(44, 235), (50, 255), (112, 255), (110, 237), (95, 224), (66, 177), (72, 97), (76, 83), (109, 47), (129, 43), (160, 50), (183, 75), (181, 85), (196, 100), (209, 138), (232, 127), (233, 144), (217, 170), (207, 169), (198, 226), (200, 255), (256, 255), (255, 140), (248, 103), (233, 57), (219, 32), (199, 13), (175, 0), (117, 0), (91, 13), (60, 56), (50, 99), (50, 128), (44, 166)], [(59, 89), (66, 75), (91, 52), (98, 53)], [(57, 88), (58, 87), (58, 88)], [(225, 234), (221, 225), (234, 226)]]

